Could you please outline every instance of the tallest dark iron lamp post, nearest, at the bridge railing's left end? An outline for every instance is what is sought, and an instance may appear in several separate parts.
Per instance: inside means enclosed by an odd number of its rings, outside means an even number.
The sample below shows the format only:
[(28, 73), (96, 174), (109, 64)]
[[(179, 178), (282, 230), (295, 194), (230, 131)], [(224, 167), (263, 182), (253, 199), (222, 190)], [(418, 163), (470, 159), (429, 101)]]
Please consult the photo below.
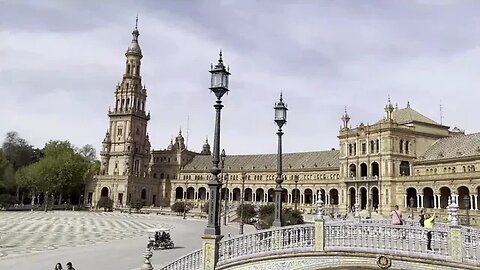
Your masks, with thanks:
[(219, 193), (222, 187), (222, 182), (218, 179), (218, 174), (220, 173), (220, 168), (218, 168), (218, 163), (220, 162), (220, 115), (223, 108), (222, 97), (225, 93), (228, 93), (228, 76), (230, 76), (229, 69), (225, 68), (222, 59), (222, 51), (220, 51), (220, 57), (218, 63), (215, 67), (210, 69), (211, 75), (211, 85), (210, 91), (215, 94), (217, 98), (216, 104), (213, 105), (216, 111), (215, 115), (215, 134), (214, 134), (214, 143), (213, 143), (213, 167), (212, 167), (212, 177), (208, 181), (208, 188), (210, 189), (210, 200), (208, 201), (208, 224), (205, 228), (206, 235), (220, 235), (220, 200)]

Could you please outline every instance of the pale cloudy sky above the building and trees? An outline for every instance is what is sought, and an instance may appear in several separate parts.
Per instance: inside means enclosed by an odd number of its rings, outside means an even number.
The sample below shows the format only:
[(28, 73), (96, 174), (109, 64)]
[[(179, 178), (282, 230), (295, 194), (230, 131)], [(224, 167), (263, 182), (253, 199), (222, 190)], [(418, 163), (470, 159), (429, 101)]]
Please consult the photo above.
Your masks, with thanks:
[(352, 126), (374, 123), (389, 95), (437, 122), (441, 104), (443, 124), (480, 131), (479, 1), (0, 0), (0, 135), (98, 151), (137, 14), (154, 149), (180, 128), (192, 151), (213, 143), (220, 49), (227, 154), (277, 151), (280, 92), (284, 152), (338, 148), (345, 106)]

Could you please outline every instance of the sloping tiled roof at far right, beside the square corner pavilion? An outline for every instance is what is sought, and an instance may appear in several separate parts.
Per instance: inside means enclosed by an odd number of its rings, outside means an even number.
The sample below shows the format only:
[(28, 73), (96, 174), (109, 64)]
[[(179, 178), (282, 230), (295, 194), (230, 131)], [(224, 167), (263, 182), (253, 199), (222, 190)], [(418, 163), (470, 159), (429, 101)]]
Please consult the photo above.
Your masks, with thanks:
[(480, 154), (480, 133), (457, 135), (437, 140), (419, 161), (469, 157)]

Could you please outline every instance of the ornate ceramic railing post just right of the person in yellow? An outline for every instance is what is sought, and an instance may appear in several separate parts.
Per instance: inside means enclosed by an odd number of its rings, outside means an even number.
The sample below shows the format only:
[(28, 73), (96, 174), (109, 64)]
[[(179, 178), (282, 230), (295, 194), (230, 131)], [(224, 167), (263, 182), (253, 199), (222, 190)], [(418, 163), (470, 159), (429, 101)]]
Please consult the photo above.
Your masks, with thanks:
[(448, 206), (450, 210), (450, 256), (452, 261), (463, 261), (462, 228), (458, 226), (458, 202), (455, 196)]

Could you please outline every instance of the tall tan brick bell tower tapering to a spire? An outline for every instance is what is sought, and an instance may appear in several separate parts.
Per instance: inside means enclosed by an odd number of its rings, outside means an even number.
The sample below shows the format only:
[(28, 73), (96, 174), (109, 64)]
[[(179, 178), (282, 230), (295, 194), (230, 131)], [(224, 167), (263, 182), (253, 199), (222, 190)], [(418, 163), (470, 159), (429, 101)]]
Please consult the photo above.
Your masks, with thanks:
[(140, 73), (142, 50), (138, 43), (138, 17), (132, 41), (125, 53), (125, 73), (115, 89), (113, 110), (109, 109), (110, 127), (102, 143), (101, 173), (105, 175), (146, 176), (150, 158), (150, 141), (146, 112), (147, 89)]

